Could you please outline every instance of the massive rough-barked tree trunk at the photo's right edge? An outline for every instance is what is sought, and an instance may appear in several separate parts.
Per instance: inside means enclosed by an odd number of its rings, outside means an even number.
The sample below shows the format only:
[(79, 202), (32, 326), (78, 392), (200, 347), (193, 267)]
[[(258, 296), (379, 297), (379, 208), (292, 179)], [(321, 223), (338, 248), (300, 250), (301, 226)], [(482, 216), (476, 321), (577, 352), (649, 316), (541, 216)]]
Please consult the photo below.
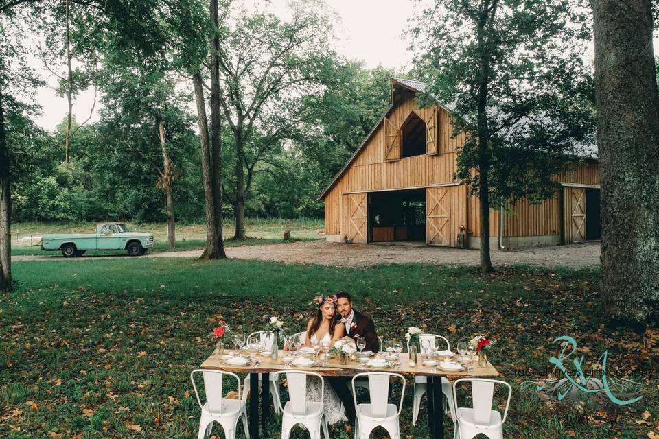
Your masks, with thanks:
[(649, 0), (595, 0), (595, 93), (605, 315), (643, 322), (659, 303), (659, 96)]

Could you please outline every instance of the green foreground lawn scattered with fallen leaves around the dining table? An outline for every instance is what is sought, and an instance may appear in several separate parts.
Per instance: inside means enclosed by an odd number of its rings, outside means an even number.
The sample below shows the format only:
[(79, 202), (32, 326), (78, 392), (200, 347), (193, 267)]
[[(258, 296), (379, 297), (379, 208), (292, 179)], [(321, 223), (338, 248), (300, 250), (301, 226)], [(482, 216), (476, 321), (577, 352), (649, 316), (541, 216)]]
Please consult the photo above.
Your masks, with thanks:
[[(275, 315), (299, 331), (310, 298), (341, 289), (385, 338), (402, 338), (412, 325), (452, 344), (476, 333), (498, 338), (489, 357), (513, 385), (507, 438), (645, 438), (658, 425), (659, 334), (605, 327), (595, 270), (508, 268), (485, 276), (429, 265), (143, 258), (23, 261), (13, 272), (16, 289), (0, 296), (0, 437), (194, 438), (199, 409), (189, 372), (213, 349), (213, 322), (222, 316), (250, 331)], [(522, 381), (546, 377), (533, 370), (549, 368), (559, 335), (577, 340), (586, 375), (605, 350), (608, 370), (644, 371), (635, 378), (643, 400), (565, 403), (524, 388)], [(425, 399), (416, 427), (411, 407), (409, 386), (402, 436), (428, 438)], [(268, 430), (279, 436), (276, 416)], [(331, 434), (347, 436), (341, 428)]]

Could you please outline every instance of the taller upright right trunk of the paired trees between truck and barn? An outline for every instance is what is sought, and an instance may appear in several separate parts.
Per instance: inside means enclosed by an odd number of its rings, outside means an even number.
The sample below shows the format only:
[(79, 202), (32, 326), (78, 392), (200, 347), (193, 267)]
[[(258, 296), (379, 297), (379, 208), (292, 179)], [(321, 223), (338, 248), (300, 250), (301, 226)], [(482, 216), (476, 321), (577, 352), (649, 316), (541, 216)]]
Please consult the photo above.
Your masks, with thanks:
[(220, 36), (218, 34), (220, 22), (218, 17), (218, 0), (210, 0), (209, 13), (216, 29), (210, 40), (211, 46), (211, 170), (213, 178), (213, 207), (215, 209), (217, 257), (226, 258), (222, 228), (224, 215), (222, 214), (222, 115), (220, 113)]

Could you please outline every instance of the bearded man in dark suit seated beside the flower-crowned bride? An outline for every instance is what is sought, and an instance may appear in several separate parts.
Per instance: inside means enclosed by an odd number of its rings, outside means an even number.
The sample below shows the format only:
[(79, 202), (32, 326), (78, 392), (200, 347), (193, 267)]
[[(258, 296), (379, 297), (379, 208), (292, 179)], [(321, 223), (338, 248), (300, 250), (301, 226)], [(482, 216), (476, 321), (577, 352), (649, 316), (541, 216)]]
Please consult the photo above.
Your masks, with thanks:
[[(366, 339), (365, 351), (378, 352), (380, 343), (378, 342), (378, 334), (375, 333), (375, 324), (369, 316), (353, 309), (350, 294), (346, 292), (336, 294), (336, 308), (341, 316), (341, 323), (345, 324), (346, 336), (353, 340), (358, 336), (362, 336)], [(329, 381), (329, 385), (332, 385), (334, 392), (343, 403), (348, 424), (354, 425), (357, 415), (355, 401), (348, 389), (348, 383), (351, 379), (348, 377), (327, 377), (327, 381)]]

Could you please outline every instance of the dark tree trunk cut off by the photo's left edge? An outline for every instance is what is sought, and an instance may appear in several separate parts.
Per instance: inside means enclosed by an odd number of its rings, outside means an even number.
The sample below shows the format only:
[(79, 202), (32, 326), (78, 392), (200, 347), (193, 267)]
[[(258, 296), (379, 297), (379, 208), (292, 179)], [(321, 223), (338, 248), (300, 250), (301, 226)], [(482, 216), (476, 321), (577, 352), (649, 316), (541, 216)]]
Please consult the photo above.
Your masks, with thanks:
[(10, 164), (0, 88), (0, 291), (12, 289), (12, 194)]

